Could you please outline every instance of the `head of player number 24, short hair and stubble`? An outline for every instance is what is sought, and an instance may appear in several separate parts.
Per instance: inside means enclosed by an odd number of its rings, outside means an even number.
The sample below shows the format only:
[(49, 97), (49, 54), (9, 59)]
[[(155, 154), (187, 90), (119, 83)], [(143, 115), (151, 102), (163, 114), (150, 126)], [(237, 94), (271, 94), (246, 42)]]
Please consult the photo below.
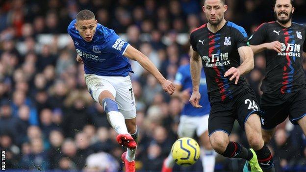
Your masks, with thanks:
[(224, 18), (224, 13), (228, 9), (228, 6), (223, 4), (221, 0), (205, 0), (202, 8), (208, 23), (210, 25), (219, 25)]

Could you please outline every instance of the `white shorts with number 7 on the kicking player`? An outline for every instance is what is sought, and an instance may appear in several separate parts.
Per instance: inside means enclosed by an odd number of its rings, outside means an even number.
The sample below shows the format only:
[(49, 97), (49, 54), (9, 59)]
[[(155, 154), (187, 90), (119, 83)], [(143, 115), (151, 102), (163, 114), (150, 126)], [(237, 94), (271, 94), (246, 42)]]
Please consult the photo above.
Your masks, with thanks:
[(109, 91), (118, 104), (118, 110), (125, 119), (136, 117), (135, 97), (129, 76), (99, 76), (85, 74), (87, 89), (91, 97), (99, 103), (102, 91)]

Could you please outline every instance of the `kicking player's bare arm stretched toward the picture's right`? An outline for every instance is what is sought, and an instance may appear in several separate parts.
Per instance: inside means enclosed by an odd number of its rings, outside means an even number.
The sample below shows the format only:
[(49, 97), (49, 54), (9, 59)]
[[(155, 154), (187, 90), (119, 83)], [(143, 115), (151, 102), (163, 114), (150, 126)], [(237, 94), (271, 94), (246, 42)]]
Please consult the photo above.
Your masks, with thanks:
[(167, 80), (162, 74), (160, 74), (158, 69), (145, 54), (133, 48), (132, 46), (128, 46), (126, 52), (124, 53), (124, 56), (137, 61), (150, 74), (153, 74), (153, 76), (161, 84), (165, 92), (169, 93), (170, 95), (173, 94), (175, 87), (173, 86), (172, 82)]

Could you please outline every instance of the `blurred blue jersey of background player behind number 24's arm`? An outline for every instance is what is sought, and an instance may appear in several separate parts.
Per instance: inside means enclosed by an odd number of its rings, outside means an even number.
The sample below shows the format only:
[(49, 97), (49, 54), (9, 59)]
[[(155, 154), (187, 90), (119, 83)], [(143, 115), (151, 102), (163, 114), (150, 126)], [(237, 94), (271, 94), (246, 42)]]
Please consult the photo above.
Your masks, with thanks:
[[(191, 80), (191, 74), (190, 74), (190, 65), (183, 65), (178, 68), (178, 73), (176, 74), (176, 78), (174, 81), (176, 84), (181, 85), (182, 89), (190, 89), (190, 95), (192, 93), (192, 80)], [(181, 114), (182, 115), (188, 115), (188, 116), (203, 116), (206, 114), (209, 114), (210, 111), (210, 103), (208, 100), (208, 94), (207, 94), (207, 85), (206, 85), (206, 78), (205, 73), (202, 68), (201, 72), (201, 78), (200, 78), (200, 105), (202, 105), (202, 108), (195, 108), (192, 106), (190, 102), (184, 105)]]

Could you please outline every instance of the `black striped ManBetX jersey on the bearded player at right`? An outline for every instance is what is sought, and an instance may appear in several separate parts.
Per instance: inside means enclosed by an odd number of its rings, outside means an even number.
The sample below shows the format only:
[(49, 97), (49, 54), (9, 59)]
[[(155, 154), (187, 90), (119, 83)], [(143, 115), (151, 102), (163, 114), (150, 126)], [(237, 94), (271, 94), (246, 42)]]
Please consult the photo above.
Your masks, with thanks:
[(296, 92), (305, 88), (302, 66), (303, 51), (306, 51), (306, 26), (292, 23), (288, 28), (277, 22), (259, 25), (249, 41), (251, 45), (260, 45), (279, 41), (281, 53), (265, 50), (266, 74), (261, 90), (269, 94)]

